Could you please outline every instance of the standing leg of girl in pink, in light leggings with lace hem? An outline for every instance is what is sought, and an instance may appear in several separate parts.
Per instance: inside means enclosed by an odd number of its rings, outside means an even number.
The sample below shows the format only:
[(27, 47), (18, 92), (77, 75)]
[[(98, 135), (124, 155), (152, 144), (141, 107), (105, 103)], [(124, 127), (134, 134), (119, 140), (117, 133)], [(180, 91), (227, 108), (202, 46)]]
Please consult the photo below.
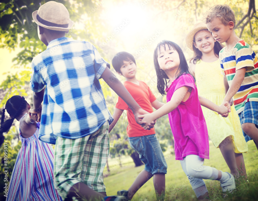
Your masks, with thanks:
[(190, 176), (186, 170), (186, 158), (180, 160), (181, 166), (183, 168), (184, 173), (190, 181), (193, 191), (195, 192), (198, 200), (209, 200), (208, 190), (206, 185), (202, 179), (196, 179)]

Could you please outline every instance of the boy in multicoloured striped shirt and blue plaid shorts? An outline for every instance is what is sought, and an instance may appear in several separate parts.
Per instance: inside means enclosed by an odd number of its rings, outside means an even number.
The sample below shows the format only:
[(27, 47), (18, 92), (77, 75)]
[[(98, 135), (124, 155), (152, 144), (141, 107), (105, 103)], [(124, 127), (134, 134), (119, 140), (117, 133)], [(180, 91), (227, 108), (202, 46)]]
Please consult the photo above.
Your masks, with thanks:
[(206, 12), (205, 23), (212, 36), (226, 46), (219, 53), (228, 91), (223, 104), (233, 97), (246, 142), (254, 140), (258, 149), (258, 62), (257, 57), (243, 39), (235, 34), (235, 14), (226, 4), (215, 5)]

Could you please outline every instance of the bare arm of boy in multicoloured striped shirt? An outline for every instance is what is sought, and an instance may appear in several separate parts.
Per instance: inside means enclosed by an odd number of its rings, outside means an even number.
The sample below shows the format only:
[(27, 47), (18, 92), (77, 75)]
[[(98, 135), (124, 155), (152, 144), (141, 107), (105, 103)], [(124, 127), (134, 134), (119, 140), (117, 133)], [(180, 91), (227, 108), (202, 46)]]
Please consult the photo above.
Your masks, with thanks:
[(222, 104), (224, 105), (227, 104), (227, 102), (229, 102), (230, 99), (237, 93), (245, 78), (245, 72), (246, 72), (246, 68), (241, 68), (236, 70), (236, 74), (231, 82), (231, 85), (228, 89), (228, 92), (225, 95), (225, 98)]

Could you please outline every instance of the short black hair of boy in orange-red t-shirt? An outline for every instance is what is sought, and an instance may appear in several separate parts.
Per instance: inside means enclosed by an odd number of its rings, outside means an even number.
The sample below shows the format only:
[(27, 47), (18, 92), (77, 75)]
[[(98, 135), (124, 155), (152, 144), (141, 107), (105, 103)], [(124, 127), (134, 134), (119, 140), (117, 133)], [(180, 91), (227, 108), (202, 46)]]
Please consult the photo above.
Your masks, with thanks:
[(116, 72), (121, 73), (120, 68), (123, 65), (123, 61), (133, 61), (136, 65), (135, 59), (132, 54), (128, 52), (118, 52), (112, 59), (112, 66)]

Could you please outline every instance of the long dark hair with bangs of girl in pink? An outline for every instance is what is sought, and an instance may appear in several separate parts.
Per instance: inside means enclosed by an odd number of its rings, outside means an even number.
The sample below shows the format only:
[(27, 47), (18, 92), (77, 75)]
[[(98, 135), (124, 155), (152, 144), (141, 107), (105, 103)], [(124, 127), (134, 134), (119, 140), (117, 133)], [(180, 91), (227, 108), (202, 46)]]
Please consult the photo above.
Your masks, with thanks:
[[(164, 70), (162, 70), (159, 66), (158, 63), (158, 52), (160, 51), (160, 47), (164, 47), (164, 49), (166, 50), (166, 46), (168, 45), (169, 49), (171, 50), (172, 48), (178, 52), (179, 54), (179, 59), (180, 59), (180, 64), (179, 64), (179, 68), (176, 71), (176, 79), (178, 77), (180, 77), (183, 74), (190, 74), (192, 77), (193, 75), (190, 73), (186, 58), (184, 56), (184, 53), (181, 49), (181, 47), (178, 46), (178, 44), (172, 42), (172, 41), (167, 41), (167, 40), (163, 40), (160, 43), (158, 43), (157, 47), (154, 50), (154, 54), (153, 54), (153, 59), (154, 59), (154, 67), (156, 70), (156, 74), (157, 74), (157, 89), (159, 91), (160, 94), (165, 95), (165, 89), (167, 87), (167, 74), (165, 73)], [(193, 79), (195, 80), (195, 78), (193, 77)]]

